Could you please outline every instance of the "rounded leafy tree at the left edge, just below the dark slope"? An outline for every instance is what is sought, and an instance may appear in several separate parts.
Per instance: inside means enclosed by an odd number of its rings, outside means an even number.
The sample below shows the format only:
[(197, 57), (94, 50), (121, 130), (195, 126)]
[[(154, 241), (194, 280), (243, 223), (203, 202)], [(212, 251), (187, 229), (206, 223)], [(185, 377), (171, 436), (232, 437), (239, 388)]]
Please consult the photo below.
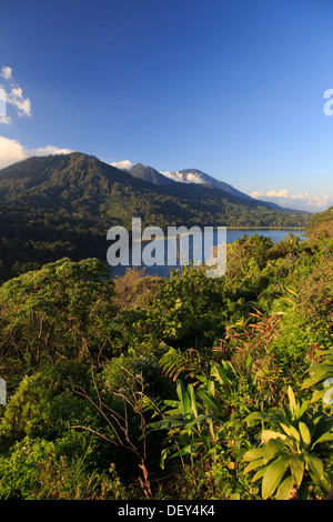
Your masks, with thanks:
[(0, 289), (2, 357), (14, 351), (37, 368), (46, 359), (110, 353), (112, 295), (109, 271), (97, 259), (64, 258), (6, 282)]

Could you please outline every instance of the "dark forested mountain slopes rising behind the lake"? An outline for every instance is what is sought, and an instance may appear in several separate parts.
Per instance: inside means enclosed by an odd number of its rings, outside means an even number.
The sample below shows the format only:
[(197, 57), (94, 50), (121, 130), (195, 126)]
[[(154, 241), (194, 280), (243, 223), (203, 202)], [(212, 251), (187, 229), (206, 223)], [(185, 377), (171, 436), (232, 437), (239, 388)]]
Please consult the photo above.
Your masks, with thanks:
[(233, 197), (211, 185), (158, 187), (79, 152), (0, 170), (0, 281), (61, 258), (105, 259), (111, 227), (300, 227), (306, 212)]

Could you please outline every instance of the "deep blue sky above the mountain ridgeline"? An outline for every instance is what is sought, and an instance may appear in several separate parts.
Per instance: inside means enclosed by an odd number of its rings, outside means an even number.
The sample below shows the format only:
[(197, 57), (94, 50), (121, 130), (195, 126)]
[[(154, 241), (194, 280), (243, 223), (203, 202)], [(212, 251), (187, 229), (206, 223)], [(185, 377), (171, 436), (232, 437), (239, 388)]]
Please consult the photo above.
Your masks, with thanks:
[(0, 14), (0, 167), (78, 150), (333, 204), (331, 0), (11, 0)]

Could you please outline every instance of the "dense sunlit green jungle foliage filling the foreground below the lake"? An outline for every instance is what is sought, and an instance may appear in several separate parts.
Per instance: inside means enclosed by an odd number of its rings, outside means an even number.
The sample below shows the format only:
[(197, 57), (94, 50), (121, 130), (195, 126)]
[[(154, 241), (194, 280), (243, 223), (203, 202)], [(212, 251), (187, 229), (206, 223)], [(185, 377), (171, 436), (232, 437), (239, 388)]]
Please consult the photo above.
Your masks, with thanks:
[(244, 235), (216, 279), (63, 258), (3, 282), (0, 499), (325, 499), (333, 208), (309, 235)]

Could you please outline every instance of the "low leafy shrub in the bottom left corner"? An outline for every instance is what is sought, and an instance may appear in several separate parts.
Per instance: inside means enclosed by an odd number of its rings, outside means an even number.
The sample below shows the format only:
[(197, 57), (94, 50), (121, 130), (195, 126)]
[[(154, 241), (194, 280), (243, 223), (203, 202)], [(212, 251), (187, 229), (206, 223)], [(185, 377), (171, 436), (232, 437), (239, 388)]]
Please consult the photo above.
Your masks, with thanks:
[(109, 472), (89, 471), (84, 459), (59, 454), (57, 444), (29, 438), (0, 456), (1, 500), (119, 500), (127, 492), (114, 465)]

